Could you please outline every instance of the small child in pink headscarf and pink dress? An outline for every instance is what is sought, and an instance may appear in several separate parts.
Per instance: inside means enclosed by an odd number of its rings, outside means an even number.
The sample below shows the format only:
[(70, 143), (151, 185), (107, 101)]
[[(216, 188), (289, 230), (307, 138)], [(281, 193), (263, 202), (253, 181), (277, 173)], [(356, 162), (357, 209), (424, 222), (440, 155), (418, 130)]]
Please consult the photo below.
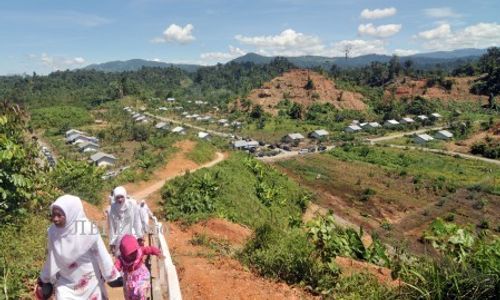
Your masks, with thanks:
[(143, 261), (147, 255), (162, 257), (160, 249), (141, 247), (135, 237), (128, 234), (123, 236), (115, 267), (123, 272), (123, 293), (126, 300), (145, 300), (149, 297), (151, 275)]

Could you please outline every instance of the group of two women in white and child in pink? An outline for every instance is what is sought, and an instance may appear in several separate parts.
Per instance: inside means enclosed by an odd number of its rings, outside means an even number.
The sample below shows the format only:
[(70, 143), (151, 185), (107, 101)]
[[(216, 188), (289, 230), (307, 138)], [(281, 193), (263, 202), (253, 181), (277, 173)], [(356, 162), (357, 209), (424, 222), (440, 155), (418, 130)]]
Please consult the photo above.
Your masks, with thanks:
[(108, 299), (105, 282), (123, 282), (124, 299), (148, 298), (148, 255), (161, 257), (156, 247), (144, 246), (150, 233), (147, 204), (127, 197), (123, 187), (113, 190), (107, 210), (111, 257), (99, 228), (88, 220), (80, 198), (64, 195), (50, 206), (48, 254), (38, 279), (37, 299)]

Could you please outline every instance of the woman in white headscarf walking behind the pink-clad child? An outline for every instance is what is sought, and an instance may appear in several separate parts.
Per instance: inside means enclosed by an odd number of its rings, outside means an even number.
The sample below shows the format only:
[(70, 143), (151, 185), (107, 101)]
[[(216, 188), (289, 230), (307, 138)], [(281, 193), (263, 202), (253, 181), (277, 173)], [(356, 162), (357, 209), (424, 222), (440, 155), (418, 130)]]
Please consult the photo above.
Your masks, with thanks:
[[(142, 230), (139, 207), (135, 200), (127, 198), (127, 191), (119, 186), (113, 190), (113, 204), (109, 211), (109, 244), (111, 251), (118, 251), (121, 238), (130, 234), (143, 241), (144, 232)], [(118, 253), (115, 253), (115, 255)]]

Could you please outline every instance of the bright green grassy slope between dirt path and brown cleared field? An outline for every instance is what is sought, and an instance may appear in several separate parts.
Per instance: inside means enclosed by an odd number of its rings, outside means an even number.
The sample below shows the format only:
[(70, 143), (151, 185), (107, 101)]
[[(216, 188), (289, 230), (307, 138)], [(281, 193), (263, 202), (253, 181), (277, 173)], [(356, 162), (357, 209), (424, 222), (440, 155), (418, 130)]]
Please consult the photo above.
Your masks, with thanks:
[[(169, 218), (175, 216), (174, 219), (197, 221), (219, 216), (256, 228), (266, 222), (286, 227), (290, 216), (300, 216), (301, 208), (297, 203), (304, 197), (302, 189), (271, 167), (258, 163), (265, 170), (266, 183), (276, 187), (276, 201), (266, 206), (258, 197), (258, 180), (245, 165), (246, 159), (247, 155), (243, 153), (233, 153), (227, 160), (210, 169), (201, 169), (169, 181), (162, 191)], [(214, 185), (216, 192), (214, 197), (208, 199), (210, 203), (197, 198), (197, 193), (202, 192), (204, 187)], [(179, 199), (179, 204), (174, 204), (172, 199)], [(192, 199), (191, 203), (188, 203), (188, 199)], [(186, 213), (185, 206), (191, 204), (191, 212)], [(204, 211), (206, 208), (210, 211)]]

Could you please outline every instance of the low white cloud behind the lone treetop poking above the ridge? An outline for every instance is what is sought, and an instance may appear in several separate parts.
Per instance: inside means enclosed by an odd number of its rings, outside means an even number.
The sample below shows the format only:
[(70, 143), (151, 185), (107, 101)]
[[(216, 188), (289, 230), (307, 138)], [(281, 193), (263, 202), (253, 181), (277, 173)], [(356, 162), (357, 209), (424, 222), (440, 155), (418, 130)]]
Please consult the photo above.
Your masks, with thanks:
[(349, 48), (349, 57), (366, 54), (387, 54), (385, 43), (382, 40), (343, 40), (332, 45), (329, 50), (331, 56), (344, 56), (345, 49)]

